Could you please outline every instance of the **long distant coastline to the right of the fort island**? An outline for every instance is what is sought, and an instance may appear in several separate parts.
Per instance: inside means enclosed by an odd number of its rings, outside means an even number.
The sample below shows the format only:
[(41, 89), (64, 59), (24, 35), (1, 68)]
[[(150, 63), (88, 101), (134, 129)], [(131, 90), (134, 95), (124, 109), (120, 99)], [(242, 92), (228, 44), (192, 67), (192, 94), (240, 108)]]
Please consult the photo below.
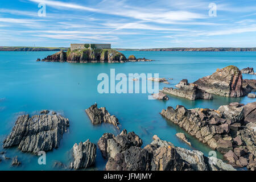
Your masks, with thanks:
[(176, 48), (149, 48), (149, 49), (126, 49), (115, 48), (117, 51), (256, 51), (256, 47), (251, 48), (235, 48), (235, 47), (204, 47), (204, 48), (188, 48), (188, 47), (176, 47)]

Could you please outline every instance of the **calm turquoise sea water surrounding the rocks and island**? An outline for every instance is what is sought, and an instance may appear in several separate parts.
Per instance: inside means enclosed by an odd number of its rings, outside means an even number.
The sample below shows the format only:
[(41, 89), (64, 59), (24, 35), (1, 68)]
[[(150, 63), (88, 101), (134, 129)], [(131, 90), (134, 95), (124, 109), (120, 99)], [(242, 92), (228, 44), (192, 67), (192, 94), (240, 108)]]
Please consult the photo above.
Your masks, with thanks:
[[(0, 170), (51, 170), (55, 160), (68, 162), (68, 151), (76, 142), (84, 142), (88, 138), (97, 140), (106, 132), (117, 134), (112, 125), (92, 126), (85, 109), (94, 102), (98, 106), (106, 106), (111, 114), (115, 114), (121, 123), (121, 129), (134, 131), (143, 139), (143, 146), (151, 142), (154, 134), (160, 138), (189, 149), (197, 149), (208, 155), (210, 148), (189, 137), (192, 146), (180, 142), (175, 134), (184, 132), (179, 127), (162, 118), (159, 112), (167, 106), (184, 105), (187, 108), (209, 107), (217, 109), (230, 102), (248, 103), (254, 99), (225, 98), (215, 96), (212, 101), (189, 101), (170, 96), (168, 101), (148, 100), (148, 94), (99, 94), (97, 81), (99, 73), (159, 73), (159, 77), (174, 78), (170, 85), (174, 86), (181, 79), (189, 82), (207, 76), (228, 65), (256, 68), (256, 52), (137, 52), (123, 51), (126, 56), (146, 57), (155, 61), (148, 63), (117, 64), (70, 64), (41, 63), (35, 60), (54, 52), (0, 52), (0, 142), (10, 133), (16, 117), (20, 114), (36, 114), (40, 110), (55, 110), (69, 118), (69, 132), (65, 133), (57, 150), (47, 152), (47, 165), (39, 166), (38, 156), (23, 154), (17, 147), (7, 149), (7, 156), (18, 155), (22, 166), (10, 167), (11, 161), (3, 160)], [(243, 75), (243, 78), (256, 76)], [(218, 155), (220, 158), (221, 155)], [(96, 167), (104, 169), (106, 161), (97, 150)]]

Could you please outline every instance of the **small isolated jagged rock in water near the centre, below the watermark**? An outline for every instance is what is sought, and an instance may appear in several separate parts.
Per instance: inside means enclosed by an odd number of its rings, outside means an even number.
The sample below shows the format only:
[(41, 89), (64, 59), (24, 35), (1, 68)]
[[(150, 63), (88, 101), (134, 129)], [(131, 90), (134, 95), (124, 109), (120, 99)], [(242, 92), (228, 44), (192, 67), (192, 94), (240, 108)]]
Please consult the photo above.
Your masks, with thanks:
[(115, 115), (110, 115), (105, 107), (98, 108), (97, 104), (94, 104), (85, 111), (88, 114), (88, 117), (90, 118), (90, 121), (92, 121), (93, 125), (97, 125), (100, 123), (111, 123), (119, 129), (119, 127), (117, 126), (119, 124), (118, 119), (115, 117)]

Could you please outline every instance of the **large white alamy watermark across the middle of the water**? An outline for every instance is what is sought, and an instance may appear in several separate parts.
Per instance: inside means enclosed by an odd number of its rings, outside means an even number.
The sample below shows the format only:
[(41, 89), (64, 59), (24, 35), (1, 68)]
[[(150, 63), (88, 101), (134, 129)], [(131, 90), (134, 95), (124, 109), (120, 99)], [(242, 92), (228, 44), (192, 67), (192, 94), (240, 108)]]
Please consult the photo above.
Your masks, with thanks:
[[(100, 73), (97, 77), (101, 81), (97, 90), (98, 93), (118, 93), (118, 94), (139, 94), (148, 93), (148, 99), (153, 99), (151, 94), (159, 92), (159, 82), (148, 80), (152, 78), (152, 73), (129, 73), (128, 76), (124, 73), (115, 74), (115, 69), (110, 69), (110, 77), (106, 73)], [(154, 73), (154, 78), (159, 78), (159, 73)], [(154, 82), (154, 86), (153, 86)]]

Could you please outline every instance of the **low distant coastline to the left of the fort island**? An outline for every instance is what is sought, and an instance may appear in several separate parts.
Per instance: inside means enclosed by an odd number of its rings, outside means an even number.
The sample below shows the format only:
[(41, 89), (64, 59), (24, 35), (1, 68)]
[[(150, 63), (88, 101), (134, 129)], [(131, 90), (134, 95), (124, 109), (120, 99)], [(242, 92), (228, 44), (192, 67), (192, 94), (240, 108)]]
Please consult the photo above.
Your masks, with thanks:
[(11, 47), (0, 46), (0, 51), (67, 51), (65, 47)]

